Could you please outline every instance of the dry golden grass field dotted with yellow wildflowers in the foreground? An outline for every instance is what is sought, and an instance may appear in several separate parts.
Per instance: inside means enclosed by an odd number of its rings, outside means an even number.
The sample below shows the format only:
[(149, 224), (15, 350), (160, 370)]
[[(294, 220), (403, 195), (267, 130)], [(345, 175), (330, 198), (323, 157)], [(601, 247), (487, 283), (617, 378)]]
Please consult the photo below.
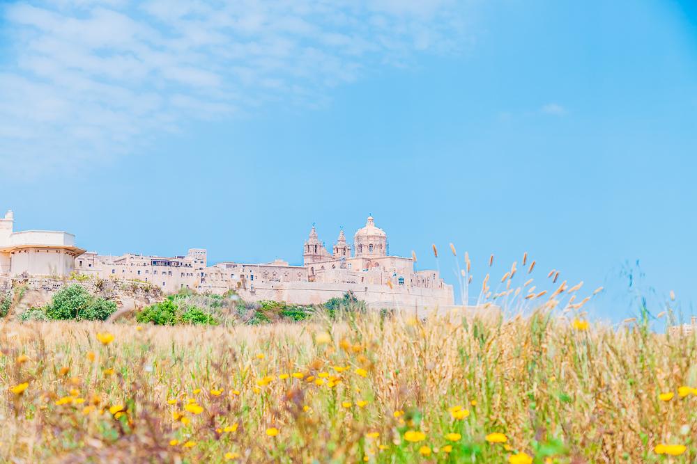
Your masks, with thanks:
[(6, 323), (0, 349), (2, 461), (697, 462), (697, 337), (636, 323)]

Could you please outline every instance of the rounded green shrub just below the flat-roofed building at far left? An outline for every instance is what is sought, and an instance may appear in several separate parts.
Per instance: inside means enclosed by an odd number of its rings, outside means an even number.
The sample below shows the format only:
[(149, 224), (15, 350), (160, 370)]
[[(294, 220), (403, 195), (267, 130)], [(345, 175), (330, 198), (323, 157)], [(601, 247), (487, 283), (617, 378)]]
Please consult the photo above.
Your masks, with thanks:
[(56, 293), (45, 307), (48, 319), (104, 321), (116, 311), (116, 303), (96, 298), (81, 285), (73, 284)]

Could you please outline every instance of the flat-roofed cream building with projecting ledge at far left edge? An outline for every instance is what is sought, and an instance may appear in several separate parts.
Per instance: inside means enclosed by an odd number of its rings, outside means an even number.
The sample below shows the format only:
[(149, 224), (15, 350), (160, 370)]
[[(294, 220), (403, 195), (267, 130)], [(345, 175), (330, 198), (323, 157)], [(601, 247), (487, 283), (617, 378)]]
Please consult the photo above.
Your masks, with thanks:
[(75, 235), (54, 230), (14, 231), (12, 210), (0, 218), (0, 275), (66, 277), (75, 270), (75, 258), (84, 250)]

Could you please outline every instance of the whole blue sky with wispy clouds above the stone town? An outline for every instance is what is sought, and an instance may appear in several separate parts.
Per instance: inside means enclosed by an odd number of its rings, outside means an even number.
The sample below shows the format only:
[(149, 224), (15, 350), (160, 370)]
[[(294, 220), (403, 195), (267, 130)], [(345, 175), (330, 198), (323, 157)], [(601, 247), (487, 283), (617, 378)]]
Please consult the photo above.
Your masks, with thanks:
[[(680, 1), (0, 6), (0, 207), (100, 253), (298, 263), (373, 214), (475, 287), (524, 252), (620, 321), (697, 282), (697, 8)], [(443, 253), (436, 263), (431, 243)], [(460, 256), (461, 258), (461, 256)], [(636, 262), (638, 261), (638, 266)], [(628, 286), (628, 270), (635, 277)], [(493, 278), (492, 277), (492, 278)]]

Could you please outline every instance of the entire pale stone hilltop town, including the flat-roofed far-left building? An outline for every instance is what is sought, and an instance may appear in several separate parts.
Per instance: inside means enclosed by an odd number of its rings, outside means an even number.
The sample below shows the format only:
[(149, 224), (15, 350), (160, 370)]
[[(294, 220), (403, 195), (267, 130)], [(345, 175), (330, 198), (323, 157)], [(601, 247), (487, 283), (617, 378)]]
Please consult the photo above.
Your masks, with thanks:
[[(195, 289), (223, 294), (233, 290), (247, 301), (320, 304), (353, 293), (370, 306), (424, 308), (453, 304), (452, 285), (438, 271), (416, 271), (413, 259), (388, 254), (388, 236), (367, 219), (346, 241), (344, 231), (330, 252), (315, 227), (302, 250), (302, 266), (277, 259), (268, 263), (209, 265), (204, 248), (162, 257), (127, 253), (85, 253), (67, 232), (14, 232), (12, 211), (0, 219), (0, 275), (67, 277), (73, 271), (109, 280), (147, 282), (171, 293)], [(355, 254), (354, 254), (355, 252)]]

